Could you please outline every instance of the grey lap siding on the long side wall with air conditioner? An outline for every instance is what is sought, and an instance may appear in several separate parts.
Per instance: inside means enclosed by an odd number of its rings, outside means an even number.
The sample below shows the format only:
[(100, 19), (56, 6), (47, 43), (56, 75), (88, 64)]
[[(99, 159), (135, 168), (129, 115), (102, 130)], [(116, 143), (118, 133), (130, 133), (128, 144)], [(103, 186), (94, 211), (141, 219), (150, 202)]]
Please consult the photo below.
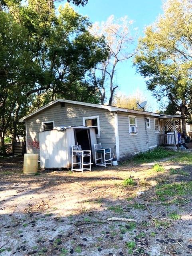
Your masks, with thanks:
[[(133, 114), (132, 114), (133, 115)], [(144, 152), (159, 144), (159, 134), (154, 131), (154, 117), (150, 117), (151, 129), (145, 129), (145, 117), (137, 116), (137, 135), (129, 134), (129, 114), (118, 114), (120, 158), (136, 152)]]

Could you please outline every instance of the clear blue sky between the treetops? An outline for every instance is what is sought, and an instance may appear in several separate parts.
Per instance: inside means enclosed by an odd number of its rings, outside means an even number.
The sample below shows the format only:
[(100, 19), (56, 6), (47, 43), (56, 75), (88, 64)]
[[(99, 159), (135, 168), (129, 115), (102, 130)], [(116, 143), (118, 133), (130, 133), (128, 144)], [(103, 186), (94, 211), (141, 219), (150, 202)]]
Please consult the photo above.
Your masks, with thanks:
[[(139, 37), (143, 36), (144, 28), (162, 13), (162, 0), (88, 0), (88, 4), (84, 7), (73, 7), (80, 14), (89, 16), (93, 23), (105, 21), (111, 14), (115, 18), (127, 15), (134, 21), (133, 27), (138, 28)], [(134, 44), (137, 46), (137, 38)], [(118, 64), (116, 80), (120, 92), (129, 95), (139, 89), (146, 96), (153, 111), (159, 108), (156, 99), (146, 89), (143, 77), (136, 73), (132, 60)]]

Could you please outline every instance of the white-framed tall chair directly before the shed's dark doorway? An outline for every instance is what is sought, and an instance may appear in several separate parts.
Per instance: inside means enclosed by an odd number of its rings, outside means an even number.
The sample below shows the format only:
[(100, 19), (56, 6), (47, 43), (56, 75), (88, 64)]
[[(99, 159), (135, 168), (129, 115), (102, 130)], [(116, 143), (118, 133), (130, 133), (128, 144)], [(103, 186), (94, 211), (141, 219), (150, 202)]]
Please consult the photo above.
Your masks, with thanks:
[[(88, 152), (88, 153), (85, 153)], [(73, 162), (73, 157), (76, 156), (76, 162)], [(84, 162), (84, 157), (89, 157), (89, 162), (85, 163)], [(79, 158), (79, 162), (77, 162), (77, 158)], [(79, 165), (79, 168), (73, 168), (73, 165), (77, 164)], [(89, 170), (89, 172), (91, 172), (91, 150), (82, 150), (80, 145), (75, 145), (75, 146), (71, 146), (71, 171), (79, 171), (79, 172), (83, 172), (83, 170)], [(85, 166), (89, 166), (85, 167)]]

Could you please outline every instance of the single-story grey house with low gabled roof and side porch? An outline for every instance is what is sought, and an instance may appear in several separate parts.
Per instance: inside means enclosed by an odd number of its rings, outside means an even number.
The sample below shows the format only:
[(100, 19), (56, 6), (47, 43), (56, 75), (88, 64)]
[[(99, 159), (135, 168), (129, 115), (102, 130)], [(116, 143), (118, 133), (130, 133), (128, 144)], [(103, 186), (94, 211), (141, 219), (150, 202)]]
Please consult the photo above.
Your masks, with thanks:
[[(95, 128), (97, 143), (116, 148), (117, 159), (144, 152), (162, 145), (176, 145), (176, 120), (181, 116), (168, 116), (152, 112), (118, 108), (114, 106), (57, 99), (24, 116), (28, 153), (39, 154), (39, 132), (55, 126), (88, 126)], [(167, 140), (167, 138), (169, 138)]]

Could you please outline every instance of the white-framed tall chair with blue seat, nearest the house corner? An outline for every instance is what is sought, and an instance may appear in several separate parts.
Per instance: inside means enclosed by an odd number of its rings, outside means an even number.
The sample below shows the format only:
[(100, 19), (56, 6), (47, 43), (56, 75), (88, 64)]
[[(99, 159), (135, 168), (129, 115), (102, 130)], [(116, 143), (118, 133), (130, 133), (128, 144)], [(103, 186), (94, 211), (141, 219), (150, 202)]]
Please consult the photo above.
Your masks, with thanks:
[[(94, 150), (95, 150), (96, 165), (105, 166), (105, 167), (106, 167), (106, 164), (112, 165), (111, 148), (102, 148), (101, 143), (97, 143), (97, 144), (94, 144)], [(109, 158), (106, 158), (106, 155), (109, 155)], [(99, 160), (99, 163), (97, 163), (98, 160)]]

